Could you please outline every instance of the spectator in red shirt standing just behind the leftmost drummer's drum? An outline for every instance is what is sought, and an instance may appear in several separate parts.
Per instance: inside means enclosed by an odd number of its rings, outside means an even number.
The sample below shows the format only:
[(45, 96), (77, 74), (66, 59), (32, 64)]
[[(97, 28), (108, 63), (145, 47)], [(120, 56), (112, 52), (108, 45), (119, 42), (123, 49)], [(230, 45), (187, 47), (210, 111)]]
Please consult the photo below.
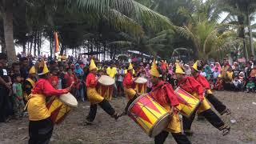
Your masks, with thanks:
[(75, 85), (77, 83), (77, 78), (73, 74), (73, 71), (72, 71), (71, 68), (68, 68), (67, 74), (64, 75), (64, 79), (65, 79), (66, 87), (71, 86), (72, 83), (74, 83), (74, 86), (72, 86), (72, 89), (71, 89), (70, 93), (73, 94), (73, 95), (76, 95)]

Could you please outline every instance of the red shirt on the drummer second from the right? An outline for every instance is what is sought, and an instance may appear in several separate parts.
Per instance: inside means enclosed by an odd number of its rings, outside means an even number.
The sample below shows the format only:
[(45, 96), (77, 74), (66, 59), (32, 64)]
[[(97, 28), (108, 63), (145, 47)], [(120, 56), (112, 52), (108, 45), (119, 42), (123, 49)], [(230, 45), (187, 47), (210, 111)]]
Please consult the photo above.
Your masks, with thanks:
[(186, 77), (178, 82), (178, 86), (180, 86), (183, 90), (190, 94), (197, 94), (200, 100), (204, 99), (204, 90), (202, 85), (195, 80), (193, 77)]

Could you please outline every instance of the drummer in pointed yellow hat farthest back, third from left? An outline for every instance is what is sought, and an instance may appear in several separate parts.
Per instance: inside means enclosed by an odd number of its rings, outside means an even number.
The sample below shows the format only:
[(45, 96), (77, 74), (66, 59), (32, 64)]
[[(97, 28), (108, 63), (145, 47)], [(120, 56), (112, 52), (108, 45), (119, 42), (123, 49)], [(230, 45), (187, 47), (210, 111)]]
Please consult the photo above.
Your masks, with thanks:
[(124, 114), (127, 113), (128, 107), (138, 96), (138, 92), (134, 90), (134, 81), (137, 80), (137, 78), (133, 79), (134, 74), (134, 67), (130, 63), (129, 67), (127, 68), (127, 73), (125, 75), (125, 78), (123, 79), (122, 85), (126, 94), (126, 98), (128, 98), (129, 102), (127, 102), (126, 109)]

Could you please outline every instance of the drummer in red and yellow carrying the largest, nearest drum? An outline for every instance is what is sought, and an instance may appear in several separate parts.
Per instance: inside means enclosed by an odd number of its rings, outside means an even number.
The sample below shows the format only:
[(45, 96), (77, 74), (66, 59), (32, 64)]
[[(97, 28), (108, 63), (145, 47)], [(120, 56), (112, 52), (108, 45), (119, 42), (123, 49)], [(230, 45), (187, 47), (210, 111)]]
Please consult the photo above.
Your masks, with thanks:
[(160, 74), (155, 62), (153, 62), (153, 65), (151, 66), (150, 75), (151, 82), (153, 83), (150, 96), (171, 114), (169, 125), (165, 130), (162, 130), (160, 134), (154, 137), (154, 142), (156, 144), (164, 143), (170, 132), (178, 144), (190, 143), (189, 139), (186, 138), (186, 135), (182, 134), (182, 123), (178, 117), (178, 109), (176, 108), (176, 106), (179, 105), (179, 102), (174, 94), (173, 87), (168, 82), (160, 80)]

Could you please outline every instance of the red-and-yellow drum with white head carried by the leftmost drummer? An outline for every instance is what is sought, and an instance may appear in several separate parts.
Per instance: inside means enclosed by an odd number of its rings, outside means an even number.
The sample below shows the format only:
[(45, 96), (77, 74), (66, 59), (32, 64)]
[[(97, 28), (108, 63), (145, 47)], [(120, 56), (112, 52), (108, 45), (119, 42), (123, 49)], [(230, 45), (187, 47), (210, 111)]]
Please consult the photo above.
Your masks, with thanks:
[(46, 103), (46, 107), (50, 111), (50, 119), (54, 124), (59, 124), (66, 118), (66, 115), (70, 112), (71, 107), (77, 107), (78, 101), (70, 93), (62, 94), (59, 98), (52, 97)]

